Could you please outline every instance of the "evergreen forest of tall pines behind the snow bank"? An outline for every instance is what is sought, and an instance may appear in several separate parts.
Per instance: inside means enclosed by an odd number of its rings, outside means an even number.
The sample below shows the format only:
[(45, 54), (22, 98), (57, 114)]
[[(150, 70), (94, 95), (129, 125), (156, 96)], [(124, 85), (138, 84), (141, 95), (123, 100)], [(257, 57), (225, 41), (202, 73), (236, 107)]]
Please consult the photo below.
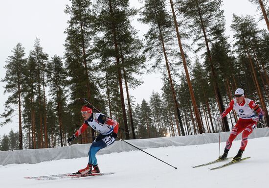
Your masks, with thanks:
[[(269, 124), (269, 0), (257, 17), (233, 14), (233, 41), (225, 34), (222, 0), (70, 0), (65, 14), (63, 57), (49, 56), (36, 38), (25, 53), (18, 43), (6, 59), (4, 118), (19, 131), (0, 137), (0, 150), (68, 145), (83, 124), (83, 98), (119, 122), (118, 139), (176, 137), (230, 131), (235, 111), (218, 121), (237, 88), (264, 110), (258, 128)], [(246, 0), (247, 1), (247, 0)], [(140, 37), (133, 20), (146, 24)], [(160, 72), (161, 92), (135, 101), (129, 90), (143, 74)], [(98, 112), (94, 109), (94, 112)], [(75, 143), (91, 143), (88, 128)]]

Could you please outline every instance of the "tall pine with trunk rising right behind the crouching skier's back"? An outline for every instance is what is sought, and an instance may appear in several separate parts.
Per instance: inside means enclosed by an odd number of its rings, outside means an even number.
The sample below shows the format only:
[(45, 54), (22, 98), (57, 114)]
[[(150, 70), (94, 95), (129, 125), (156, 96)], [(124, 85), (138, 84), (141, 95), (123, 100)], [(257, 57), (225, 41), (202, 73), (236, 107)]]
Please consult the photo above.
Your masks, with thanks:
[[(95, 14), (97, 15), (96, 26), (102, 36), (99, 39), (102, 42), (99, 43), (106, 46), (107, 55), (114, 62), (115, 69), (111, 71), (114, 71), (112, 74), (116, 74), (117, 76), (125, 137), (126, 139), (130, 139), (122, 85), (122, 66), (124, 66), (122, 64), (126, 60), (124, 56), (126, 52), (125, 47), (127, 47), (126, 40), (130, 39), (128, 36), (126, 38), (123, 37), (126, 36), (125, 34), (128, 31), (130, 32), (128, 28), (128, 25), (130, 25), (129, 17), (134, 14), (134, 11), (129, 8), (129, 0), (97, 0), (94, 6)], [(123, 28), (128, 29), (125, 29), (126, 32), (124, 32), (122, 31)], [(130, 47), (128, 49), (130, 50)]]

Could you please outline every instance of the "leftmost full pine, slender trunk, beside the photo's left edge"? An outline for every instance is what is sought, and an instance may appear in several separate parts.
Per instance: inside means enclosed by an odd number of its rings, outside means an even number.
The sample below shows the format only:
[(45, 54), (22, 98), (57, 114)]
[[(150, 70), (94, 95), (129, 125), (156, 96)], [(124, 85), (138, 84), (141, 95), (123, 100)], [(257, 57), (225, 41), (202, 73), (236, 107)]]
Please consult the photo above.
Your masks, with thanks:
[(24, 70), (26, 68), (26, 59), (24, 58), (24, 47), (22, 44), (18, 43), (13, 49), (13, 55), (9, 56), (7, 59), (7, 65), (4, 66), (6, 69), (6, 74), (2, 82), (6, 82), (4, 93), (11, 93), (7, 101), (4, 104), (5, 112), (1, 114), (2, 118), (5, 118), (5, 121), (1, 123), (7, 124), (11, 122), (12, 115), (15, 112), (15, 105), (19, 108), (19, 141), (20, 149), (22, 149), (22, 85), (24, 76)]

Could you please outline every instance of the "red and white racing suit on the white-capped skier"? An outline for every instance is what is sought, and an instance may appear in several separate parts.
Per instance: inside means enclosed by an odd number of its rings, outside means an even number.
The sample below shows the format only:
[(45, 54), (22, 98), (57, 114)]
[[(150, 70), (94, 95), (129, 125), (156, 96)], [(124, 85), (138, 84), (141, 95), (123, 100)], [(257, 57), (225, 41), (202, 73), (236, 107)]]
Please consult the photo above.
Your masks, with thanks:
[(232, 128), (232, 132), (226, 142), (225, 148), (230, 149), (232, 141), (243, 131), (240, 149), (245, 150), (247, 146), (247, 137), (257, 125), (257, 122), (252, 119), (256, 117), (255, 111), (258, 113), (259, 117), (262, 117), (264, 112), (253, 100), (244, 98), (242, 103), (238, 103), (236, 99), (234, 99), (230, 102), (229, 107), (222, 113), (222, 118), (224, 118), (232, 109), (237, 112), (239, 120)]

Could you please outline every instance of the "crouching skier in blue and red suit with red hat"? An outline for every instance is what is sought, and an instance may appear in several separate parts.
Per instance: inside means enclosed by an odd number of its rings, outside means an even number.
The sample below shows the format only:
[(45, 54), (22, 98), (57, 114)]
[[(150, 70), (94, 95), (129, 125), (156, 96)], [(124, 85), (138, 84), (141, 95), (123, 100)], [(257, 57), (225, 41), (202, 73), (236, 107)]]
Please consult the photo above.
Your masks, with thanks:
[[(81, 115), (84, 118), (83, 125), (76, 131), (76, 133), (67, 139), (68, 142), (73, 141), (76, 137), (81, 135), (89, 126), (98, 131), (100, 134), (92, 142), (89, 150), (89, 163), (86, 168), (78, 170), (74, 174), (90, 174), (99, 173), (100, 169), (97, 164), (96, 153), (111, 145), (117, 138), (119, 124), (111, 118), (106, 117), (101, 113), (93, 113), (88, 106), (81, 108)], [(93, 169), (92, 169), (93, 167)]]

